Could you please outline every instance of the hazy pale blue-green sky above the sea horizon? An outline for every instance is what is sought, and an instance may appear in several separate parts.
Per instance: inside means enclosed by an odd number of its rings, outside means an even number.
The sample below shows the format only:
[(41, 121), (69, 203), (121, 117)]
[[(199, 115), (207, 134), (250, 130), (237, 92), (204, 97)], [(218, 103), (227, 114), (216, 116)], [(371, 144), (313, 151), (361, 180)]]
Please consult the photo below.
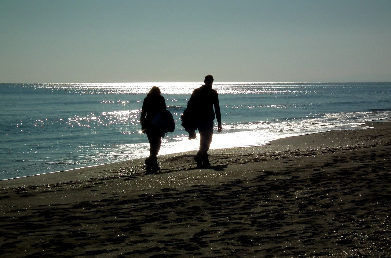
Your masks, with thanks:
[(0, 0), (0, 83), (391, 81), (390, 0)]

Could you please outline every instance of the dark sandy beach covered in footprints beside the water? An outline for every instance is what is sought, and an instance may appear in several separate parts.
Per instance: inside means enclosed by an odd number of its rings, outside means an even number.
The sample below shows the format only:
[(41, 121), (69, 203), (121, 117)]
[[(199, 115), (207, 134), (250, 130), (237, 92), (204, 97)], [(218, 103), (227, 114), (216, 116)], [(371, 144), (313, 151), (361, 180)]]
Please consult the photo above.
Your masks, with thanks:
[(391, 257), (391, 130), (0, 181), (0, 257)]

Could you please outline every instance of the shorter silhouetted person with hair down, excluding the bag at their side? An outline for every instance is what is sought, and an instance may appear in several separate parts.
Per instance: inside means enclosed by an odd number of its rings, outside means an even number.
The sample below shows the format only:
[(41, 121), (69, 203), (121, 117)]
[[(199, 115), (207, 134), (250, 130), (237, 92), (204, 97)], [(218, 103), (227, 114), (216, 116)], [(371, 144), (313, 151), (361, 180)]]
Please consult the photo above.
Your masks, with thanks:
[(160, 89), (154, 86), (144, 99), (140, 117), (141, 131), (147, 134), (150, 147), (150, 156), (145, 159), (147, 172), (156, 172), (160, 169), (157, 155), (160, 150), (160, 138), (164, 137), (164, 132), (160, 126), (156, 125), (154, 120), (156, 120), (156, 117), (166, 116), (166, 102), (164, 97), (161, 96)]

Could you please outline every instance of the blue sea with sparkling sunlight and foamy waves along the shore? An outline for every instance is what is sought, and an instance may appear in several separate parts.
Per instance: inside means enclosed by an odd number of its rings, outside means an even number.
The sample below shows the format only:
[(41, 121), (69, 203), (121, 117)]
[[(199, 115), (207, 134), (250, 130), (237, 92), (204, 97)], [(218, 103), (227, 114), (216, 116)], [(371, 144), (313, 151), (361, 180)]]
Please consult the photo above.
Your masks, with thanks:
[[(140, 110), (158, 86), (176, 129), (159, 154), (196, 150), (180, 116), (200, 82), (0, 84), (0, 180), (149, 156)], [(391, 117), (391, 82), (215, 82), (222, 128), (212, 149), (362, 129)], [(365, 127), (364, 127), (365, 128)]]

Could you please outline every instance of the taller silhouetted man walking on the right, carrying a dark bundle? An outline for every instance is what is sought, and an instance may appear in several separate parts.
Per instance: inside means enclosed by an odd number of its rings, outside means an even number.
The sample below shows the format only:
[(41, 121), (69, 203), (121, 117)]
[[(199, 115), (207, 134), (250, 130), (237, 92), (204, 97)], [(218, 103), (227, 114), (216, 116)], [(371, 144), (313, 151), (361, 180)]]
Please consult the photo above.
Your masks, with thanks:
[[(194, 156), (197, 167), (210, 166), (208, 150), (212, 142), (213, 120), (217, 119), (218, 132), (221, 127), (221, 113), (219, 106), (219, 96), (217, 91), (212, 89), (213, 76), (206, 75), (204, 85), (193, 91), (187, 108), (183, 112), (182, 126), (189, 133), (189, 139), (195, 139), (195, 130), (198, 129), (200, 135), (199, 151)], [(214, 106), (214, 110), (213, 110)]]

